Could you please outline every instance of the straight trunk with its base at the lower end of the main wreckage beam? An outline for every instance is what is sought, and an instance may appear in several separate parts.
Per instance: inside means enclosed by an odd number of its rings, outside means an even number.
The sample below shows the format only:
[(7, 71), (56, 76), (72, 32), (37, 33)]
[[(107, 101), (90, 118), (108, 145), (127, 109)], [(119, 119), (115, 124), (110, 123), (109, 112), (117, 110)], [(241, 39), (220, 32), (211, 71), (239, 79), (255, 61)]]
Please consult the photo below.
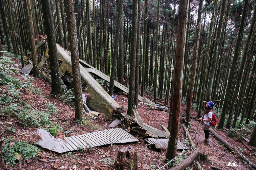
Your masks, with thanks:
[(133, 1), (132, 13), (132, 32), (131, 32), (131, 56), (130, 56), (130, 73), (129, 73), (129, 98), (127, 114), (133, 115), (134, 91), (135, 91), (135, 61), (136, 61), (136, 39), (138, 26), (138, 0)]

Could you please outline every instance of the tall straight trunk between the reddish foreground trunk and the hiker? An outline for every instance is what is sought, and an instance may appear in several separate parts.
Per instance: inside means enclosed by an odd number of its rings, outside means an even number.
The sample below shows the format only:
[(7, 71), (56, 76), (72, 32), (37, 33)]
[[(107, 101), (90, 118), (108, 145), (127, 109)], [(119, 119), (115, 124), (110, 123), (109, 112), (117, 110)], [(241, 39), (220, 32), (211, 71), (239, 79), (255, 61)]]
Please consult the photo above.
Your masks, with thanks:
[(197, 70), (197, 56), (198, 56), (198, 47), (199, 47), (199, 39), (200, 39), (200, 30), (201, 30), (201, 16), (202, 16), (202, 6), (203, 0), (199, 0), (199, 7), (198, 7), (198, 15), (197, 15), (197, 31), (196, 31), (196, 38), (195, 38), (195, 47), (194, 47), (194, 56), (193, 56), (193, 65), (192, 65), (192, 77), (190, 81), (190, 91), (188, 96), (188, 103), (186, 109), (186, 127), (188, 127), (190, 121), (190, 113), (191, 113), (191, 106), (192, 106), (192, 98), (194, 93), (194, 85), (195, 85), (195, 77), (196, 77), (196, 70)]

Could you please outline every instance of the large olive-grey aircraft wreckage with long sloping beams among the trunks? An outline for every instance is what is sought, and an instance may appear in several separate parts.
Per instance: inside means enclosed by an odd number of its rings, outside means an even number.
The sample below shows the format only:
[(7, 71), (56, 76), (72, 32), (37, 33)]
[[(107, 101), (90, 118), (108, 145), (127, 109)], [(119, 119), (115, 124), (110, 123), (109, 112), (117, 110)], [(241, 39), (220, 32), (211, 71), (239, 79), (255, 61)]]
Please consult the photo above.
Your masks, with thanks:
[[(36, 48), (39, 48), (43, 44), (45, 44), (46, 40), (41, 40)], [(63, 78), (72, 80), (72, 67), (71, 67), (71, 57), (70, 52), (62, 48), (60, 45), (57, 45), (57, 56), (59, 60), (59, 70), (60, 75)], [(44, 58), (38, 64), (40, 74), (49, 82), (51, 82), (51, 71), (49, 67), (49, 62), (47, 61), (48, 55), (48, 46), (45, 53)], [(29, 62), (29, 58), (27, 58), (27, 63)], [(163, 132), (157, 128), (151, 127), (145, 123), (143, 123), (140, 115), (136, 109), (134, 104), (133, 111), (134, 117), (126, 115), (122, 113), (123, 106), (117, 104), (117, 102), (103, 89), (103, 87), (96, 81), (96, 79), (92, 76), (94, 75), (97, 78), (101, 78), (106, 81), (110, 81), (110, 77), (103, 74), (99, 70), (90, 66), (83, 60), (80, 60), (80, 74), (81, 74), (81, 82), (83, 89), (86, 89), (86, 93), (90, 93), (91, 97), (87, 99), (85, 98), (84, 108), (87, 110), (86, 112), (94, 112), (98, 111), (103, 113), (108, 119), (115, 120), (118, 119), (122, 123), (122, 127), (128, 131), (134, 131), (139, 134), (139, 137), (164, 137), (168, 138), (169, 133)], [(32, 70), (32, 64), (28, 64), (22, 68), (23, 74), (29, 74)], [(123, 91), (128, 93), (128, 88), (123, 86), (122, 84), (115, 81), (114, 89), (116, 91)], [(139, 96), (139, 101), (143, 101), (143, 98)]]

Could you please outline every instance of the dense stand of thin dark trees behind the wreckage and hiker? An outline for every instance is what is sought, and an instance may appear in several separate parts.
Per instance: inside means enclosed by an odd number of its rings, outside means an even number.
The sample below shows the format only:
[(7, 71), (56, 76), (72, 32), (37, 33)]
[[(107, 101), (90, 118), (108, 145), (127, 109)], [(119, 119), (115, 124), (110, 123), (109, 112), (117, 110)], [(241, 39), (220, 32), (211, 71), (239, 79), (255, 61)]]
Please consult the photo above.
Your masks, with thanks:
[[(134, 85), (135, 93), (139, 88), (141, 96), (152, 92), (155, 101), (164, 98), (170, 106), (175, 62), (183, 62), (175, 57), (179, 1), (138, 1), (136, 31), (132, 29), (134, 2), (74, 1), (79, 58), (106, 75), (115, 73), (118, 82), (129, 88)], [(25, 12), (28, 4), (32, 15)], [(187, 114), (191, 103), (196, 103), (198, 117), (203, 101), (214, 101), (215, 108), (221, 110), (218, 128), (256, 121), (255, 4), (253, 0), (189, 1), (182, 99), (188, 102)], [(28, 21), (32, 17), (35, 43), (47, 29), (42, 8), (40, 0), (0, 0), (0, 51), (7, 45), (9, 52), (21, 56), (23, 66), (23, 56), (28, 57), (32, 48)], [(56, 42), (69, 50), (65, 10), (64, 1), (51, 0)], [(132, 43), (135, 36), (136, 44)], [(45, 46), (37, 50), (38, 62), (45, 51)], [(135, 84), (129, 86), (133, 76)]]

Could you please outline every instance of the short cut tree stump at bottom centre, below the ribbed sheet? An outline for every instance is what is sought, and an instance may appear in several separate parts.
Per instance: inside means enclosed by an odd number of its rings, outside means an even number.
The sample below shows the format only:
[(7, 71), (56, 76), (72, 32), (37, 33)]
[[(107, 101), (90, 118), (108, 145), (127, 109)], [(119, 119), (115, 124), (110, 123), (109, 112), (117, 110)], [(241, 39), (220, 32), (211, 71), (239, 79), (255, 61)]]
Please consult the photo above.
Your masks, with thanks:
[(119, 170), (137, 170), (138, 155), (136, 150), (130, 146), (120, 149), (113, 168)]

